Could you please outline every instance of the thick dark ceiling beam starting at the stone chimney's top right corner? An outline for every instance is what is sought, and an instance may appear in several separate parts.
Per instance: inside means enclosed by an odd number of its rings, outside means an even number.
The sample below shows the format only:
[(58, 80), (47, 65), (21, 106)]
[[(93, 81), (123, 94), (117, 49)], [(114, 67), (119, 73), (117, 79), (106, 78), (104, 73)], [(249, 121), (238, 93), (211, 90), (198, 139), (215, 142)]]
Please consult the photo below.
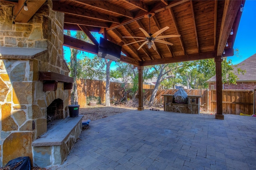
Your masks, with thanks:
[(121, 23), (119, 18), (110, 16), (110, 15), (106, 15), (106, 14), (101, 14), (99, 12), (95, 12), (92, 10), (86, 10), (84, 8), (78, 8), (78, 7), (70, 6), (70, 5), (67, 6), (63, 3), (60, 3), (59, 1), (56, 1), (56, 0), (52, 1), (52, 10), (58, 11), (58, 12), (63, 12), (64, 14), (71, 14), (74, 16), (91, 18), (91, 19), (100, 20), (100, 21)]

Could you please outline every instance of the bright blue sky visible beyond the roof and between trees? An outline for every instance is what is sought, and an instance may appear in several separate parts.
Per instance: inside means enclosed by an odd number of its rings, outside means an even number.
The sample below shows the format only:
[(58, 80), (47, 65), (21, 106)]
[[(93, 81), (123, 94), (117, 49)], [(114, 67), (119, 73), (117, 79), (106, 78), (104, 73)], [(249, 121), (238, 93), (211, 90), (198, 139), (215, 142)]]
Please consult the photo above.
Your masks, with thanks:
[[(256, 53), (256, 0), (246, 0), (244, 4), (244, 11), (239, 23), (238, 32), (234, 42), (234, 49), (239, 50), (239, 56), (234, 55), (228, 57), (232, 60), (232, 64), (238, 64), (251, 57)], [(100, 41), (102, 35), (97, 36), (97, 41)], [(64, 58), (70, 60), (70, 49), (69, 47), (63, 46)], [(84, 52), (86, 56), (93, 57), (91, 53)], [(78, 57), (79, 58), (79, 57)], [(112, 62), (110, 69), (115, 68), (115, 62)]]

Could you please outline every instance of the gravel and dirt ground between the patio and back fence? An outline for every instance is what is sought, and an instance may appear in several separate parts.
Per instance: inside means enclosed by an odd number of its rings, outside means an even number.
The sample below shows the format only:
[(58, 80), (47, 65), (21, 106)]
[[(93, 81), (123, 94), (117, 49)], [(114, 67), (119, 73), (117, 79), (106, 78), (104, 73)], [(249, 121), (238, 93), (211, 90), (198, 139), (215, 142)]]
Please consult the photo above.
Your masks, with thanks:
[[(149, 108), (144, 107), (144, 109)], [(164, 110), (163, 107), (157, 109)], [(86, 108), (79, 108), (79, 114), (84, 115), (83, 120), (90, 119), (91, 121), (93, 121), (132, 110), (137, 110), (137, 107), (127, 107), (125, 105), (111, 105), (110, 107), (106, 107), (104, 105), (97, 105), (87, 106)]]

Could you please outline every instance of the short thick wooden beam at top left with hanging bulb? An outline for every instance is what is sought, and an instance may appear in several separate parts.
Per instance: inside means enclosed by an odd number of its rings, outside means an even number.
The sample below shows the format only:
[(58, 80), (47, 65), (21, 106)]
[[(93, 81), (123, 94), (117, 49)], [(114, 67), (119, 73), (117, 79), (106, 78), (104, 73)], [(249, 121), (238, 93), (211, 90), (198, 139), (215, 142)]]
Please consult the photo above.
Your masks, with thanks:
[(14, 7), (15, 22), (27, 23), (38, 9), (46, 2), (46, 0), (30, 0), (27, 1), (28, 11), (23, 9), (25, 0), (19, 0), (18, 5)]

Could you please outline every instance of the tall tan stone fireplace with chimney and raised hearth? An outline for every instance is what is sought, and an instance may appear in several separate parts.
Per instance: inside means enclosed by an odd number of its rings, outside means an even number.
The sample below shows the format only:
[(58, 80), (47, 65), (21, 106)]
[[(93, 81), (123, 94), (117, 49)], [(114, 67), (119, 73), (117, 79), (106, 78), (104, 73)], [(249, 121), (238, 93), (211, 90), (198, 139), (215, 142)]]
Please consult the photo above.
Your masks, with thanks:
[[(48, 0), (13, 29), (13, 6), (0, 1), (0, 166), (19, 156), (29, 156), (34, 166), (62, 164), (82, 131), (82, 117), (68, 112), (72, 81), (63, 59), (64, 14)], [(58, 141), (47, 138), (54, 133), (62, 135)]]

